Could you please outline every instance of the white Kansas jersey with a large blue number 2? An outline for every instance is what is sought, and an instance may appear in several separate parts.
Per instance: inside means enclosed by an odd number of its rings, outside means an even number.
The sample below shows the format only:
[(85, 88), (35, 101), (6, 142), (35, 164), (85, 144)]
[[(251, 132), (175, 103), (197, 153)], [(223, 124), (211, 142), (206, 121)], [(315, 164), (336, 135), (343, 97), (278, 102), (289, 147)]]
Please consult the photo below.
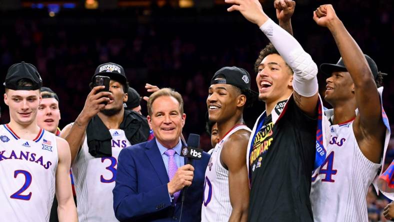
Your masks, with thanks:
[(57, 168), (56, 136), (41, 129), (33, 140), (0, 125), (1, 221), (49, 221)]

